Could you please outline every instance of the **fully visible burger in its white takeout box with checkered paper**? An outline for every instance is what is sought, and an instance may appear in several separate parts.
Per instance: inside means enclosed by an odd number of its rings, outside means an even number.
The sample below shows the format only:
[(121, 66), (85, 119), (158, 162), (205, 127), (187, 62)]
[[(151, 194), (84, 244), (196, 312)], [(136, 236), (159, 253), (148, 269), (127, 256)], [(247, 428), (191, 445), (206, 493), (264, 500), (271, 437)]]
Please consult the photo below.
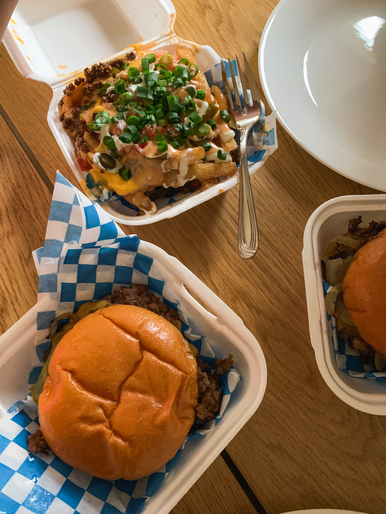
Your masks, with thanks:
[(59, 173), (33, 256), (38, 303), (0, 337), (0, 509), (169, 512), (257, 409), (258, 342)]

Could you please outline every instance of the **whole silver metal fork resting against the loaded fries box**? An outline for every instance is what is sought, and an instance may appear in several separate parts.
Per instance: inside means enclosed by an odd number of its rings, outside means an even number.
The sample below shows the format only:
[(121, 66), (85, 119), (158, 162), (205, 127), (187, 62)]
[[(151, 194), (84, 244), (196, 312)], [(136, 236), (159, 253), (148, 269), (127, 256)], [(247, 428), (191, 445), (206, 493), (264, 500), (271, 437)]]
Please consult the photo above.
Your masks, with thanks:
[(231, 115), (232, 127), (240, 131), (240, 190), (239, 190), (239, 226), (238, 226), (238, 246), (239, 254), (243, 259), (251, 259), (257, 252), (259, 247), (259, 232), (257, 229), (257, 219), (255, 205), (253, 202), (251, 178), (248, 171), (247, 163), (247, 139), (250, 128), (256, 123), (261, 116), (260, 97), (257, 90), (255, 79), (253, 78), (251, 68), (248, 64), (244, 52), (245, 69), (247, 70), (248, 82), (251, 91), (252, 101), (248, 96), (247, 85), (240, 67), (238, 57), (236, 56), (238, 75), (241, 82), (242, 93), (244, 96), (244, 107), (241, 105), (239, 90), (237, 87), (235, 75), (233, 72), (231, 60), (228, 58), (233, 89), (235, 91), (237, 109), (233, 106), (231, 88), (229, 87), (226, 77), (225, 67), (221, 61), (222, 82), (224, 85), (225, 95), (229, 105), (229, 113)]

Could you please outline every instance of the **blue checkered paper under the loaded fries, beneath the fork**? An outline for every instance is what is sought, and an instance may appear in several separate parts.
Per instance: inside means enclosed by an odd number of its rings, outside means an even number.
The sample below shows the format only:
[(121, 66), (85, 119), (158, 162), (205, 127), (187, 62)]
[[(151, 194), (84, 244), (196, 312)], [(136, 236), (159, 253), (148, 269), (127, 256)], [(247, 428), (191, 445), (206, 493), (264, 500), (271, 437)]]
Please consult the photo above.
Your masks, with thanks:
[[(228, 79), (231, 79), (231, 71), (229, 68), (228, 61), (223, 61), (225, 65), (226, 76)], [(238, 81), (238, 71), (236, 66), (236, 61), (232, 61), (232, 68)], [(205, 72), (206, 80), (210, 87), (214, 84), (217, 85), (220, 89), (223, 90), (222, 77), (221, 77), (221, 62), (216, 63), (213, 68), (207, 70)], [(231, 88), (232, 81), (230, 80)], [(234, 94), (233, 94), (234, 96)], [(243, 95), (240, 90), (241, 102), (243, 103)], [(258, 164), (258, 168), (265, 163), (268, 157), (277, 149), (277, 135), (276, 135), (276, 116), (274, 113), (265, 117), (265, 106), (264, 103), (261, 103), (261, 117), (260, 119), (253, 125), (251, 131), (249, 133), (248, 141), (247, 141), (247, 160), (249, 166), (254, 166)], [(236, 131), (235, 139), (237, 144), (240, 142), (240, 134)], [(103, 203), (108, 204), (115, 212), (119, 214), (124, 214), (126, 216), (137, 216), (139, 215), (139, 209), (132, 204), (130, 204), (125, 198), (118, 195), (117, 193), (113, 193), (112, 195), (108, 193), (105, 189), (104, 191), (104, 201)], [(183, 194), (176, 193), (176, 190), (173, 188), (165, 189), (162, 186), (157, 188), (157, 194), (161, 196), (154, 201), (157, 209), (162, 209), (166, 205), (174, 204), (176, 201), (183, 200), (188, 198), (190, 195), (194, 195), (197, 193)], [(96, 203), (101, 203), (100, 199), (95, 200)]]

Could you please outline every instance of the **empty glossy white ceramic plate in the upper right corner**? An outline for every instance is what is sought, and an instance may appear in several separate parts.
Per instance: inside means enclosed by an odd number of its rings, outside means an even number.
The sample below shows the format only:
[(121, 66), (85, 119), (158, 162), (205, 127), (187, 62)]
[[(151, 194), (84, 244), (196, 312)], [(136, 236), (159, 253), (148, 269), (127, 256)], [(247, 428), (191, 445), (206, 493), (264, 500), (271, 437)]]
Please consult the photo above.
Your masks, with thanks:
[(386, 191), (386, 2), (282, 0), (260, 80), (287, 132), (329, 168)]

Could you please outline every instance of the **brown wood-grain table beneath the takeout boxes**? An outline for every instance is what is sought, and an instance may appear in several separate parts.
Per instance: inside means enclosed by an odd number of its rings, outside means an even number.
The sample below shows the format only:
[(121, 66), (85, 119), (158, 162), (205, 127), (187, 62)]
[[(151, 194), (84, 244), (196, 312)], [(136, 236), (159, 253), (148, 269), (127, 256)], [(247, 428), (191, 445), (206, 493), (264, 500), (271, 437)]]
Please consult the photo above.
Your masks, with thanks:
[[(175, 29), (224, 57), (244, 50), (258, 77), (259, 38), (275, 4), (174, 0)], [(3, 332), (36, 303), (31, 251), (44, 241), (56, 170), (77, 183), (46, 122), (50, 99), (50, 88), (21, 77), (2, 47)], [(280, 126), (277, 131), (278, 150), (252, 176), (261, 239), (253, 260), (237, 252), (237, 187), (176, 218), (122, 227), (191, 269), (243, 319), (267, 359), (260, 408), (229, 444), (225, 460), (219, 456), (172, 512), (278, 514), (325, 507), (382, 514), (386, 419), (348, 407), (321, 378), (309, 341), (301, 259), (304, 227), (315, 208), (335, 196), (377, 191), (334, 173)]]

